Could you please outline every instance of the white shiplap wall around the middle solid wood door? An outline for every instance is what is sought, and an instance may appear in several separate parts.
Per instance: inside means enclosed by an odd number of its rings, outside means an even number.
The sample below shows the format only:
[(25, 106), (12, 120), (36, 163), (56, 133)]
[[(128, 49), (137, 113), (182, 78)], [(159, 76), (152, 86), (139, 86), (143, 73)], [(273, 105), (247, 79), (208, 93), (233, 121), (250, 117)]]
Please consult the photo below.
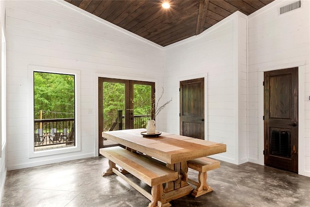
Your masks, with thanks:
[(180, 133), (180, 81), (205, 77), (205, 139), (225, 143), (227, 152), (215, 157), (236, 164), (247, 161), (246, 19), (236, 12), (198, 36), (165, 47), (164, 56), (165, 92), (175, 100), (167, 106), (167, 131)]

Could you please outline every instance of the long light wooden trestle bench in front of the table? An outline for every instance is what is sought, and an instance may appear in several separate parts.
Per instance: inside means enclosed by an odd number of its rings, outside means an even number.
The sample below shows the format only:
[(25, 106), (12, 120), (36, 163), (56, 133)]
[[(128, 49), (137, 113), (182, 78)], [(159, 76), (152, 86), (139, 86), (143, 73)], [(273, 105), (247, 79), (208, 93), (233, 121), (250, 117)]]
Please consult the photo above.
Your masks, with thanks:
[[(109, 159), (109, 168), (103, 176), (111, 175), (113, 173), (119, 175), (128, 184), (151, 201), (148, 207), (171, 206), (169, 202), (162, 198), (163, 183), (176, 180), (178, 178), (177, 172), (163, 166), (156, 160), (148, 159), (145, 156), (130, 152), (120, 146), (101, 148), (99, 152), (101, 155)], [(120, 171), (116, 167), (116, 164), (122, 167), (126, 172), (134, 175), (147, 185), (151, 186), (151, 194), (123, 175), (124, 172)]]

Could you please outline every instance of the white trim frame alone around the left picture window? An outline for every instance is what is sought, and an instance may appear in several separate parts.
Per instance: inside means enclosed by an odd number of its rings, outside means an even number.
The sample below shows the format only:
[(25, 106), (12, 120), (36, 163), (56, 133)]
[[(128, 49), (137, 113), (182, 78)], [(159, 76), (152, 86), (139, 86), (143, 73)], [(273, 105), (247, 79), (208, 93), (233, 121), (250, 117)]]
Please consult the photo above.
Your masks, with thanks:
[[(48, 149), (42, 151), (34, 151), (34, 82), (33, 82), (33, 72), (46, 72), (46, 73), (58, 73), (58, 74), (67, 74), (75, 76), (75, 146), (72, 147), (63, 147), (57, 149)], [(28, 79), (29, 79), (29, 157), (43, 157), (49, 155), (58, 155), (63, 153), (77, 152), (81, 150), (81, 133), (80, 133), (80, 71), (64, 68), (55, 68), (55, 67), (46, 67), (46, 66), (37, 66), (29, 65), (28, 66)]]

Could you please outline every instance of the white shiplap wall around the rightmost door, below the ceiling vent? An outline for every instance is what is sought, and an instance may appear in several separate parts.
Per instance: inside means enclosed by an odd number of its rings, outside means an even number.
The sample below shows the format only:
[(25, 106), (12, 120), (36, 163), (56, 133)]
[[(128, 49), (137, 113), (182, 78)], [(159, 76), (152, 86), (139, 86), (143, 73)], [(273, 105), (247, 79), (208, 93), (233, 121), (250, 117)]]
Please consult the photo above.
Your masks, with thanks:
[(248, 158), (263, 164), (263, 71), (298, 67), (299, 174), (310, 176), (310, 1), (279, 15), (276, 0), (248, 16)]

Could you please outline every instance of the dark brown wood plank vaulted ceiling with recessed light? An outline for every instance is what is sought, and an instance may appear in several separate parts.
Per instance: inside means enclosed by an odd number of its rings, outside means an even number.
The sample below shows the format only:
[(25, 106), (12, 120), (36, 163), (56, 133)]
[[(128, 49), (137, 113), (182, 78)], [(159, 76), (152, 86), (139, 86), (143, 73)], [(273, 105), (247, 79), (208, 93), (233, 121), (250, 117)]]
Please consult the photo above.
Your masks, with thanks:
[(66, 0), (158, 45), (200, 34), (236, 11), (249, 15), (274, 0)]

